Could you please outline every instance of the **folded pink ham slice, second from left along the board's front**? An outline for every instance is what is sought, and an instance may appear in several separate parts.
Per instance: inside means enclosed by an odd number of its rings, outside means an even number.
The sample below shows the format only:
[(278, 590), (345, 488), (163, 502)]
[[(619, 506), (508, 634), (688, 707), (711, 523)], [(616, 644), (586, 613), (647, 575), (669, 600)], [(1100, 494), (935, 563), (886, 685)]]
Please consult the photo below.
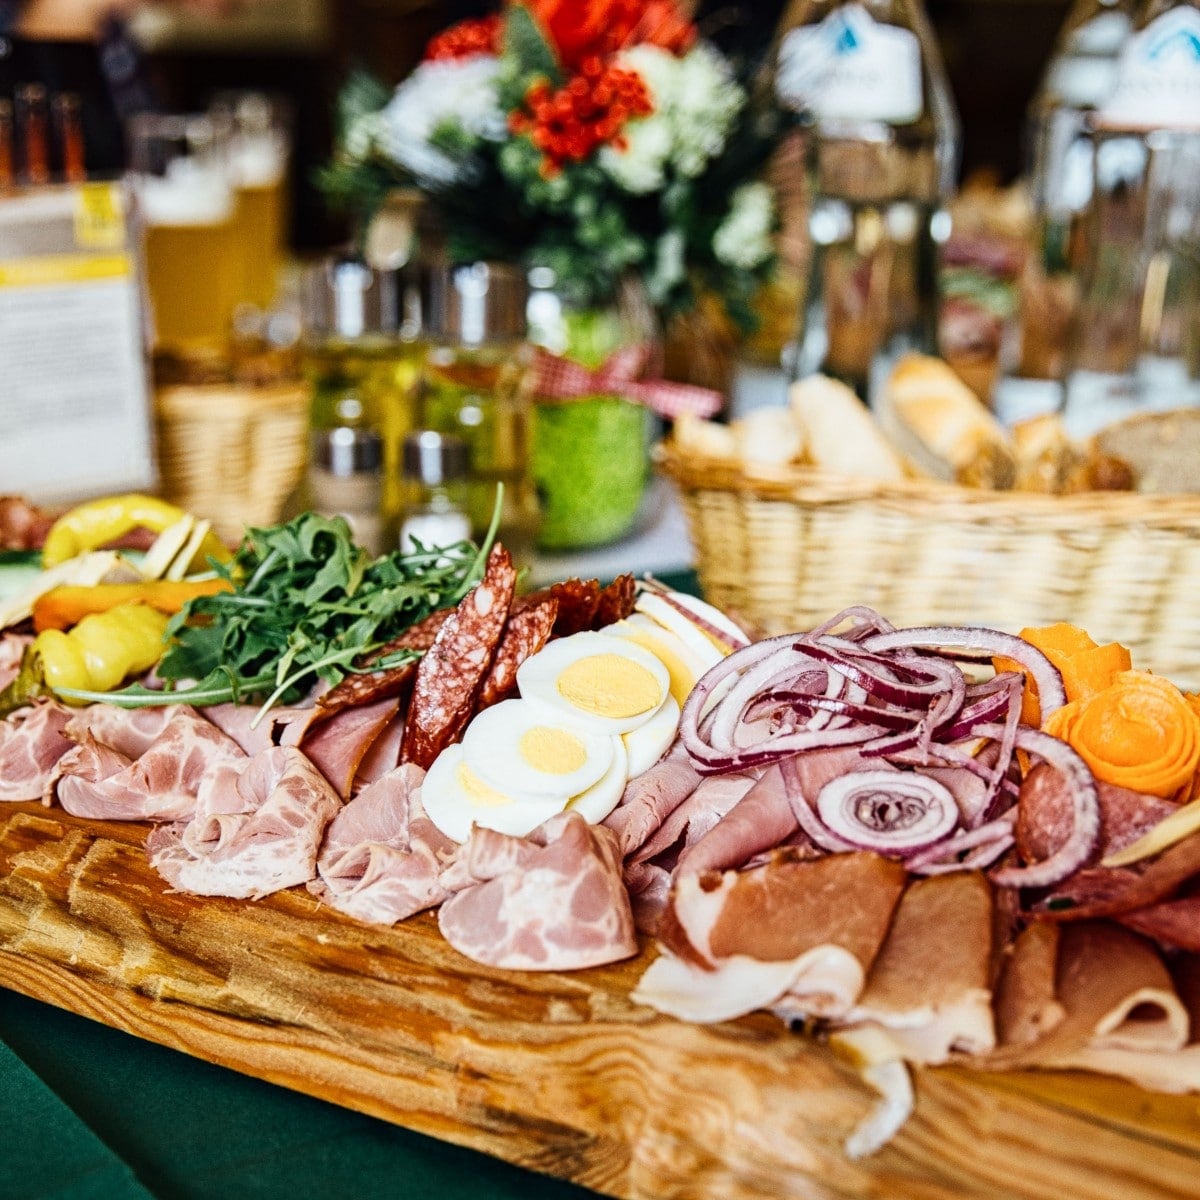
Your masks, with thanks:
[[(196, 810), (206, 786), (246, 762), (232, 738), (184, 704), (167, 709), (162, 731), (149, 745), (143, 745), (144, 727), (108, 727), (119, 745), (94, 732), (104, 730), (102, 721), (89, 721), (84, 740), (59, 760), (54, 794), (72, 816), (179, 821)], [(136, 757), (130, 749), (139, 751)]]

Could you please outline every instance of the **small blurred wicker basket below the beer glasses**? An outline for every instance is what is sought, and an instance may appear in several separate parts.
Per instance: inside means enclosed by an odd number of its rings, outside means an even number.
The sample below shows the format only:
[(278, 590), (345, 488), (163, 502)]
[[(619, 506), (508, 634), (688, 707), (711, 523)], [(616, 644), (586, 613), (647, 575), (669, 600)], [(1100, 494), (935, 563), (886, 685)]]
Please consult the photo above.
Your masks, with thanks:
[(307, 460), (306, 385), (162, 388), (155, 409), (167, 499), (210, 520), (230, 544), (246, 526), (280, 520)]

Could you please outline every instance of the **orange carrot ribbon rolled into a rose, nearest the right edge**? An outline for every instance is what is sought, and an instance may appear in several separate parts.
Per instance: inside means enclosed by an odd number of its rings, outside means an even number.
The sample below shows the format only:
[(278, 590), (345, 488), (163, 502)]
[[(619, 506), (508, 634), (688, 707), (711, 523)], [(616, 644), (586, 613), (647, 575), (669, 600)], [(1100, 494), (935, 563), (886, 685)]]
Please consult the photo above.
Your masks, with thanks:
[(1200, 716), (1175, 684), (1148, 671), (1118, 672), (1052, 713), (1045, 730), (1097, 779), (1164, 799), (1190, 787), (1200, 764)]

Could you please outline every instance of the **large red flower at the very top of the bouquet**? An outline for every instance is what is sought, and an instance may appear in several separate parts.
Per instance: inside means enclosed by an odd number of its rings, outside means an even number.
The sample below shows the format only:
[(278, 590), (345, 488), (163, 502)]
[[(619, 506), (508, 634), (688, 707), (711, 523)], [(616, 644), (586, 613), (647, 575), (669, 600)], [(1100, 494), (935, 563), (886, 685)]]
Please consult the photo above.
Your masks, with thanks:
[(607, 58), (629, 46), (650, 44), (680, 54), (696, 28), (674, 0), (520, 0), (541, 25), (566, 71), (587, 58)]

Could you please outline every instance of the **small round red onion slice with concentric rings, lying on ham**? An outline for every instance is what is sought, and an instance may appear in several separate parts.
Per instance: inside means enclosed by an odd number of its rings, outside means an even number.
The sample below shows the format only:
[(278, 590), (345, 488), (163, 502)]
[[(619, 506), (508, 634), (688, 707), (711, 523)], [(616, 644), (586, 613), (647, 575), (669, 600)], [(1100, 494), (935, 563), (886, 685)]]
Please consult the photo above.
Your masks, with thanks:
[(841, 775), (821, 788), (816, 809), (842, 841), (900, 858), (941, 841), (959, 822), (949, 788), (914, 772)]

